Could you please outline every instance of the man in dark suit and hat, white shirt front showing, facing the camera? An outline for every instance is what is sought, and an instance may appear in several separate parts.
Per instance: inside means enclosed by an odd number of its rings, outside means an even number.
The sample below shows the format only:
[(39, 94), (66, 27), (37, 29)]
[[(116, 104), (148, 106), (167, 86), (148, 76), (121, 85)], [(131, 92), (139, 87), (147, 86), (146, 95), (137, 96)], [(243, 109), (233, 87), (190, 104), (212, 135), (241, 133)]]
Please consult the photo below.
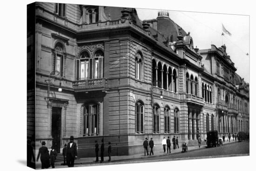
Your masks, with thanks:
[(77, 158), (77, 147), (74, 143), (74, 137), (70, 136), (70, 142), (67, 143), (67, 166), (74, 167), (74, 159)]

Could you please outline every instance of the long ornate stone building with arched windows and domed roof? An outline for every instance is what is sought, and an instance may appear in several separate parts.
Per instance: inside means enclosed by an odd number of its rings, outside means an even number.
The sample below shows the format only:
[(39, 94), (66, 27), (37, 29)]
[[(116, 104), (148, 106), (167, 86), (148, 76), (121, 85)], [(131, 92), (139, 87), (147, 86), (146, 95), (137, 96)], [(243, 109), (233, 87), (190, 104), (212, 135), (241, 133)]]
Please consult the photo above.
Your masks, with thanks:
[(78, 156), (89, 157), (102, 138), (113, 155), (129, 155), (146, 137), (160, 149), (164, 136), (249, 132), (249, 84), (225, 45), (199, 50), (167, 12), (141, 21), (135, 8), (36, 2), (31, 9), (35, 116), (28, 114), (27, 134), (36, 153), (41, 141), (61, 152), (71, 135)]

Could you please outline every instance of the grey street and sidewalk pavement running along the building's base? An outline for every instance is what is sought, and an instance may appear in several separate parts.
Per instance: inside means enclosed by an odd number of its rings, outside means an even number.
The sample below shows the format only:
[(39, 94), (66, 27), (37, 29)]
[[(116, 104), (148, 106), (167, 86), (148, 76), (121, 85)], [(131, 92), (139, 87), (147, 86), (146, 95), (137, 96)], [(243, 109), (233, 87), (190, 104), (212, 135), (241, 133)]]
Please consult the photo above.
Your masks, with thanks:
[[(163, 153), (163, 151), (155, 151), (154, 156), (144, 156), (144, 154), (136, 154), (130, 156), (113, 156), (111, 162), (107, 162), (108, 157), (105, 157), (104, 163), (95, 163), (95, 158), (80, 158), (75, 160), (75, 167), (92, 166), (92, 165), (104, 165), (104, 164), (125, 164), (125, 163), (141, 163), (141, 162), (155, 162), (155, 161), (170, 161), (180, 159), (191, 158), (212, 158), (223, 156), (239, 156), (249, 155), (249, 141), (230, 143), (225, 141), (221, 147), (206, 148), (202, 146), (200, 149), (198, 146), (189, 147), (189, 151), (182, 153), (182, 149), (171, 150), (171, 154)], [(56, 168), (67, 167), (61, 165), (62, 162), (56, 162)], [(40, 168), (40, 162), (36, 164), (37, 168)]]

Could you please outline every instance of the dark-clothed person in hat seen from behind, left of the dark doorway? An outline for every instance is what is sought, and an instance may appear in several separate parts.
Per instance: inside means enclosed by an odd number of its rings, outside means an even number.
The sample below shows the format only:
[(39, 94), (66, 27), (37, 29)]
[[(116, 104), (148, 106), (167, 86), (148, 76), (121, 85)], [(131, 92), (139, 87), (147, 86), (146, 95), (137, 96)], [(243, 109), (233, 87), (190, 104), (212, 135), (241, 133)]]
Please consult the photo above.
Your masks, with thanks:
[(49, 155), (48, 148), (45, 145), (46, 145), (45, 141), (42, 141), (42, 146), (39, 148), (39, 152), (36, 158), (36, 161), (38, 162), (38, 159), (40, 157), (42, 169), (47, 169), (50, 167), (50, 161), (49, 161), (50, 155)]

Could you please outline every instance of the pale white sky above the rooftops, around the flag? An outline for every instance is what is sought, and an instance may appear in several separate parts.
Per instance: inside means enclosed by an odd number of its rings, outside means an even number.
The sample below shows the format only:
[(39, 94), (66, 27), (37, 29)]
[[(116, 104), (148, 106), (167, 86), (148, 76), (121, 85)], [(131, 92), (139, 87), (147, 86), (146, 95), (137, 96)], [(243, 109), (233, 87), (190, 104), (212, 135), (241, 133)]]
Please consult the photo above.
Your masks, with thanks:
[[(158, 11), (153, 9), (136, 8), (141, 20), (155, 19)], [(225, 34), (223, 44), (227, 46), (227, 53), (235, 63), (237, 73), (249, 82), (249, 16), (195, 13), (183, 11), (168, 11), (169, 17), (181, 26), (194, 41), (194, 47), (209, 49), (211, 44), (220, 47), (222, 45), (222, 23), (232, 34)]]

